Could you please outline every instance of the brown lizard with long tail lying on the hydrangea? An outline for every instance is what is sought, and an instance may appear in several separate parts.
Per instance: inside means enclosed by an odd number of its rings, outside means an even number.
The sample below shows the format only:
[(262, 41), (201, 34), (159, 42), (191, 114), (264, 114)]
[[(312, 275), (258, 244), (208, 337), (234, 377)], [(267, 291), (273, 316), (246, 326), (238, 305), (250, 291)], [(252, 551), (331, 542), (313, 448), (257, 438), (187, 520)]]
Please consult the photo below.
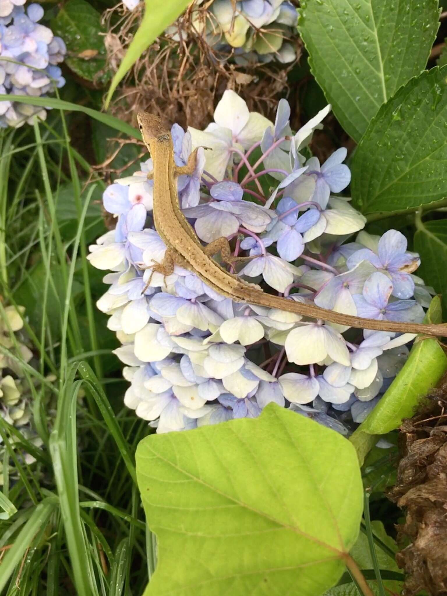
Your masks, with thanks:
[(146, 112), (139, 112), (137, 120), (143, 141), (153, 158), (153, 172), (148, 173), (148, 179), (153, 179), (154, 182), (153, 218), (155, 228), (166, 245), (163, 261), (148, 267), (152, 269), (151, 277), (154, 272), (160, 272), (166, 277), (172, 274), (175, 265), (179, 265), (194, 272), (213, 290), (235, 302), (281, 309), (360, 329), (447, 336), (447, 323), (395, 322), (347, 315), (268, 294), (259, 286), (246, 283), (237, 275), (229, 273), (212, 258), (213, 254), (220, 252), (222, 260), (229, 264), (250, 257), (232, 256), (227, 238), (218, 238), (203, 246), (180, 208), (176, 178), (194, 172), (197, 149), (191, 153), (186, 166), (177, 166), (174, 161), (172, 136), (163, 126), (162, 120)]

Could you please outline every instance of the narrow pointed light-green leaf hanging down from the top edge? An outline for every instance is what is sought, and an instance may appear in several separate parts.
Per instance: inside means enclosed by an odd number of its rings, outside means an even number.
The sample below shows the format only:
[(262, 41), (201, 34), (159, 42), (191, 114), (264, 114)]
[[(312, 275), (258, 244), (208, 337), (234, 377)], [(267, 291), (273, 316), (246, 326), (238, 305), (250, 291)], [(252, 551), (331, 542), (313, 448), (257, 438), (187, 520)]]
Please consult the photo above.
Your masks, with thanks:
[(169, 0), (169, 2), (166, 2), (166, 0), (145, 0), (144, 17), (116, 75), (110, 83), (110, 89), (108, 89), (107, 98), (105, 98), (106, 108), (110, 104), (113, 92), (119, 85), (120, 80), (134, 66), (141, 54), (147, 50), (166, 27), (169, 27), (176, 20), (190, 2), (191, 0)]

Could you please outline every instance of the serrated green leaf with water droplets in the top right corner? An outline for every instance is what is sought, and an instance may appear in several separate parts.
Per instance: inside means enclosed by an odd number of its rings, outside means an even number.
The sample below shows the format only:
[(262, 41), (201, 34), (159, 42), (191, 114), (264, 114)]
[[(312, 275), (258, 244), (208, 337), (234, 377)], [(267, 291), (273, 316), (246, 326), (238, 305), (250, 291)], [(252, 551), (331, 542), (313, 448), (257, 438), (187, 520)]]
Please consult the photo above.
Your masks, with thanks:
[(306, 0), (299, 30), (312, 73), (359, 141), (378, 108), (419, 75), (436, 37), (437, 0)]

